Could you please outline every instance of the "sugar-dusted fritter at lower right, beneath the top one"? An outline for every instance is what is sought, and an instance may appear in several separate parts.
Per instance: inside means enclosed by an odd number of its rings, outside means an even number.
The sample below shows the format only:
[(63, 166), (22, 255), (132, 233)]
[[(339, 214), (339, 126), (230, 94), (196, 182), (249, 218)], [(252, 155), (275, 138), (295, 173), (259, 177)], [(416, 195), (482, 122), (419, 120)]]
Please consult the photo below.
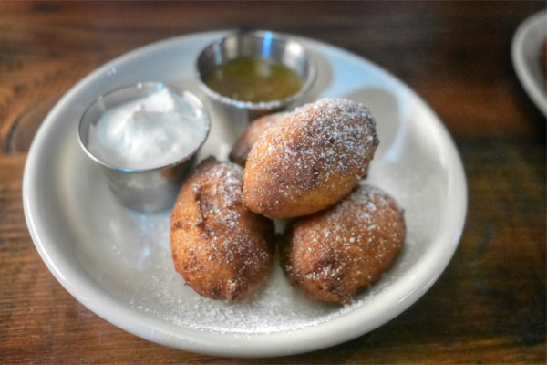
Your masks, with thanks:
[(332, 208), (300, 218), (280, 248), (285, 276), (309, 296), (348, 304), (391, 266), (406, 235), (403, 210), (359, 185)]

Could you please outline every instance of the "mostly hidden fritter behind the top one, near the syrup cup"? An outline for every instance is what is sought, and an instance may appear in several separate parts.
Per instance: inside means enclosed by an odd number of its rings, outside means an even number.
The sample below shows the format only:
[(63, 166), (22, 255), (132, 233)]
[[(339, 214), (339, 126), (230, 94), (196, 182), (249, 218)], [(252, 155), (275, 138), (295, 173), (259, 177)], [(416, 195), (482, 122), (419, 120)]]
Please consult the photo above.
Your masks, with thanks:
[(266, 130), (272, 128), (279, 120), (282, 120), (287, 112), (280, 112), (263, 116), (257, 120), (253, 120), (251, 124), (243, 131), (243, 134), (233, 145), (232, 151), (228, 158), (230, 161), (237, 163), (240, 166), (245, 166), (249, 151), (258, 141)]

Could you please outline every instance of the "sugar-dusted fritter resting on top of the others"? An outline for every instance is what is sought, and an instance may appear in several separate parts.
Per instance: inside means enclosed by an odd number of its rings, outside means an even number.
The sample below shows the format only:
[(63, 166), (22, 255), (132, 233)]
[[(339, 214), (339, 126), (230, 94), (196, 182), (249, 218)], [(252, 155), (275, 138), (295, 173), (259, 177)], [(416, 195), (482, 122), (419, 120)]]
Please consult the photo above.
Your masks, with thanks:
[(285, 116), (249, 152), (243, 203), (270, 218), (312, 214), (349, 193), (378, 144), (370, 112), (347, 99), (321, 99)]

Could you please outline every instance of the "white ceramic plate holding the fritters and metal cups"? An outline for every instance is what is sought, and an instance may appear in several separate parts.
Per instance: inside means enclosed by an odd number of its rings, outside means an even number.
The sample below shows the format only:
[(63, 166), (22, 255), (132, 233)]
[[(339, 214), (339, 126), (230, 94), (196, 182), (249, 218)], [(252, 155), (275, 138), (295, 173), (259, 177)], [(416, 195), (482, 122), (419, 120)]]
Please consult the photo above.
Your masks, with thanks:
[[(412, 90), (366, 59), (301, 39), (319, 67), (308, 99), (346, 97), (370, 107), (380, 146), (367, 181), (395, 196), (406, 211), (402, 255), (346, 308), (304, 297), (278, 265), (243, 303), (198, 296), (174, 270), (170, 212), (139, 214), (119, 206), (79, 150), (79, 117), (109, 89), (158, 80), (201, 95), (194, 59), (225, 34), (180, 36), (139, 48), (98, 68), (58, 101), (33, 141), (23, 183), (26, 222), (38, 252), (68, 292), (98, 316), (179, 349), (277, 356), (325, 348), (381, 326), (416, 302), (448, 265), (464, 224), (467, 190), (442, 122)], [(222, 120), (215, 110), (212, 118), (201, 158), (225, 159), (243, 126)]]

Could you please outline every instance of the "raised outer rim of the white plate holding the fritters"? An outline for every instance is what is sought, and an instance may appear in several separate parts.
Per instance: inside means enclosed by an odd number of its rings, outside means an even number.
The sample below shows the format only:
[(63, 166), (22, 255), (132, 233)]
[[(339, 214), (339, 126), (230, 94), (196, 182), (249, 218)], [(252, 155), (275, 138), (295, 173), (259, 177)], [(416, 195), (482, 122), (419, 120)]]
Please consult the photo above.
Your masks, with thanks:
[[(142, 57), (150, 52), (159, 51), (162, 47), (172, 47), (172, 45), (188, 40), (191, 37), (222, 36), (222, 34), (228, 32), (229, 31), (212, 31), (175, 36), (160, 40), (159, 42), (152, 43), (148, 46), (139, 47), (125, 55), (114, 58), (100, 68), (97, 68), (86, 78), (79, 81), (76, 86), (67, 91), (46, 116), (46, 119), (36, 132), (35, 139), (32, 142), (27, 155), (23, 178), (23, 203), (26, 224), (32, 240), (36, 245), (39, 255), (42, 257), (42, 260), (57, 278), (57, 281), (59, 281), (73, 297), (77, 298), (80, 303), (96, 313), (99, 317), (106, 319), (119, 328), (123, 328), (141, 338), (149, 339), (152, 342), (177, 349), (186, 349), (216, 356), (268, 357), (323, 349), (345, 342), (349, 339), (354, 339), (357, 336), (363, 335), (385, 324), (392, 318), (397, 317), (397, 315), (415, 303), (419, 297), (422, 297), (428, 288), (435, 283), (446, 266), (448, 266), (449, 260), (458, 246), (467, 213), (468, 194), (465, 172), (457, 148), (449, 136), (449, 132), (437, 115), (429, 108), (428, 104), (413, 90), (409, 89), (407, 85), (383, 68), (366, 60), (366, 58), (348, 52), (340, 47), (335, 47), (302, 36), (294, 36), (302, 39), (304, 44), (314, 44), (317, 47), (330, 48), (345, 54), (346, 57), (351, 57), (357, 59), (359, 62), (366, 63), (367, 66), (376, 69), (377, 72), (384, 74), (384, 76), (395, 82), (398, 88), (405, 89), (412, 97), (416, 98), (418, 103), (421, 104), (420, 107), (428, 111), (436, 121), (431, 127), (438, 134), (439, 138), (444, 140), (445, 149), (449, 153), (449, 160), (454, 167), (449, 176), (449, 184), (452, 185), (451, 192), (455, 195), (455, 203), (450, 207), (453, 213), (452, 216), (454, 216), (454, 222), (451, 224), (452, 229), (450, 232), (444, 232), (445, 235), (441, 237), (443, 240), (446, 240), (446, 246), (443, 246), (444, 250), (435, 255), (434, 262), (433, 260), (429, 260), (428, 270), (419, 271), (418, 274), (420, 274), (420, 276), (413, 278), (418, 285), (414, 284), (412, 286), (413, 290), (406, 293), (405, 297), (397, 298), (396, 305), (392, 308), (387, 308), (382, 318), (377, 318), (377, 320), (367, 323), (366, 326), (362, 326), (358, 321), (356, 323), (354, 318), (357, 313), (354, 313), (354, 316), (348, 316), (350, 313), (347, 313), (335, 318), (335, 320), (321, 323), (315, 328), (304, 328), (295, 330), (294, 332), (256, 334), (252, 336), (212, 333), (192, 328), (180, 328), (165, 322), (161, 322), (162, 326), (159, 328), (154, 325), (158, 324), (160, 319), (150, 318), (136, 309), (123, 305), (106, 290), (101, 289), (98, 286), (93, 286), (92, 280), (82, 275), (81, 272), (73, 270), (72, 267), (67, 266), (67, 263), (58, 262), (57, 257), (55, 257), (55, 255), (58, 255), (58, 252), (55, 251), (55, 247), (52, 247), (46, 242), (47, 237), (44, 237), (45, 232), (43, 232), (43, 227), (40, 226), (39, 212), (37, 212), (39, 209), (36, 207), (36, 169), (40, 160), (39, 151), (46, 143), (45, 137), (47, 129), (53, 128), (57, 115), (66, 108), (70, 99), (73, 98), (74, 95), (77, 95), (78, 90), (85, 88), (90, 80), (99, 77), (108, 70), (108, 68), (126, 62), (131, 58)], [(77, 287), (75, 286), (75, 280), (77, 281)], [(95, 296), (98, 296), (99, 299)], [(356, 308), (352, 312), (358, 312), (358, 310), (359, 308)], [(318, 328), (321, 330), (318, 330)]]

